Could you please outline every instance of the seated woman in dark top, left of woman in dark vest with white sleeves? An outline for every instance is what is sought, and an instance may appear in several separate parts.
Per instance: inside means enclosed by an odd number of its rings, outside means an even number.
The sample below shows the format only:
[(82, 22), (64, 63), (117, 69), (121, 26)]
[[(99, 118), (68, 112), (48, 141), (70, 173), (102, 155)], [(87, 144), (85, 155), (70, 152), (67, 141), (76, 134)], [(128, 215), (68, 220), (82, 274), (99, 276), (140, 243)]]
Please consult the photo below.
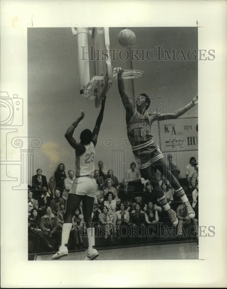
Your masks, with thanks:
[(143, 236), (142, 232), (142, 227), (145, 226), (145, 214), (141, 210), (141, 206), (139, 203), (136, 204), (135, 210), (132, 211), (131, 216), (130, 216), (130, 222), (132, 223), (132, 226), (136, 226), (136, 230), (134, 230), (134, 237), (136, 237), (135, 242), (136, 243), (141, 243), (142, 238), (143, 241), (145, 241), (145, 236)]

